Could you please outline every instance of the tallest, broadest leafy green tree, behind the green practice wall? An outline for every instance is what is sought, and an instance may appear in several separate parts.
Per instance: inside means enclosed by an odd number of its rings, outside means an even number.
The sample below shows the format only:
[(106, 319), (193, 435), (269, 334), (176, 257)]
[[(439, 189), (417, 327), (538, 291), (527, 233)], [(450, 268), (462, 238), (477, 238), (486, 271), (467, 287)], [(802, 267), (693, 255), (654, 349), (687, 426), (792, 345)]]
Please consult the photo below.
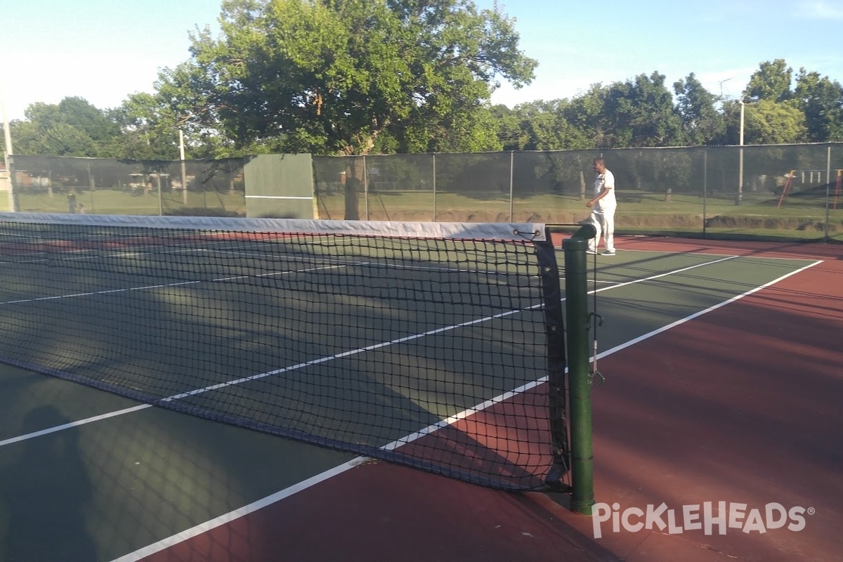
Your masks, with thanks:
[(469, 0), (226, 0), (159, 93), (239, 146), (368, 154), (500, 147), (487, 101), (536, 62), (514, 22)]

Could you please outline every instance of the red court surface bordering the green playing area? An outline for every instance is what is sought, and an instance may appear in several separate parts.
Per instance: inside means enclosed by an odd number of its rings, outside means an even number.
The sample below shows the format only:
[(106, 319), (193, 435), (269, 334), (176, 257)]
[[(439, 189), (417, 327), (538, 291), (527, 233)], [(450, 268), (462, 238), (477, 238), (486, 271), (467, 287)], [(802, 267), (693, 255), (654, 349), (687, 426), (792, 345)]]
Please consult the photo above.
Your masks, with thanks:
[[(679, 527), (683, 506), (745, 504), (739, 528), (615, 533), (607, 521), (594, 538), (594, 519), (568, 511), (565, 495), (369, 463), (145, 560), (843, 558), (843, 245), (626, 238), (618, 248), (824, 260), (600, 360), (596, 500), (619, 511), (664, 503)], [(804, 528), (766, 528), (768, 504), (803, 508)]]

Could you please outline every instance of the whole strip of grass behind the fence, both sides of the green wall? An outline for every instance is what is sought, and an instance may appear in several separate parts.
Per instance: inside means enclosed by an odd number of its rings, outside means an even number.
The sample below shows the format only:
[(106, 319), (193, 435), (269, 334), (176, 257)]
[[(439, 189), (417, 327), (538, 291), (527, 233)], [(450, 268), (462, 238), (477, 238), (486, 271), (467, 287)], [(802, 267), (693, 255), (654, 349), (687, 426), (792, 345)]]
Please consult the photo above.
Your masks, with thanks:
[[(620, 194), (619, 194), (620, 195)], [(245, 199), (240, 192), (189, 192), (188, 199), (172, 191), (161, 194), (128, 193), (126, 190), (97, 189), (77, 195), (85, 211), (99, 214), (231, 214), (245, 216)], [(0, 205), (7, 201), (0, 192)], [(21, 211), (68, 212), (67, 195), (20, 194)], [(346, 201), (341, 193), (317, 195), (319, 218), (345, 218)], [(570, 195), (514, 197), (494, 193), (437, 193), (432, 191), (389, 191), (357, 199), (359, 216), (378, 221), (438, 222), (545, 222), (572, 225), (588, 219), (585, 202)], [(620, 198), (615, 217), (618, 233), (675, 233), (724, 238), (829, 239), (843, 242), (843, 201), (833, 198), (826, 211), (824, 195), (793, 195), (781, 201), (769, 192), (744, 194), (736, 205), (733, 194), (700, 195), (626, 193)]]

